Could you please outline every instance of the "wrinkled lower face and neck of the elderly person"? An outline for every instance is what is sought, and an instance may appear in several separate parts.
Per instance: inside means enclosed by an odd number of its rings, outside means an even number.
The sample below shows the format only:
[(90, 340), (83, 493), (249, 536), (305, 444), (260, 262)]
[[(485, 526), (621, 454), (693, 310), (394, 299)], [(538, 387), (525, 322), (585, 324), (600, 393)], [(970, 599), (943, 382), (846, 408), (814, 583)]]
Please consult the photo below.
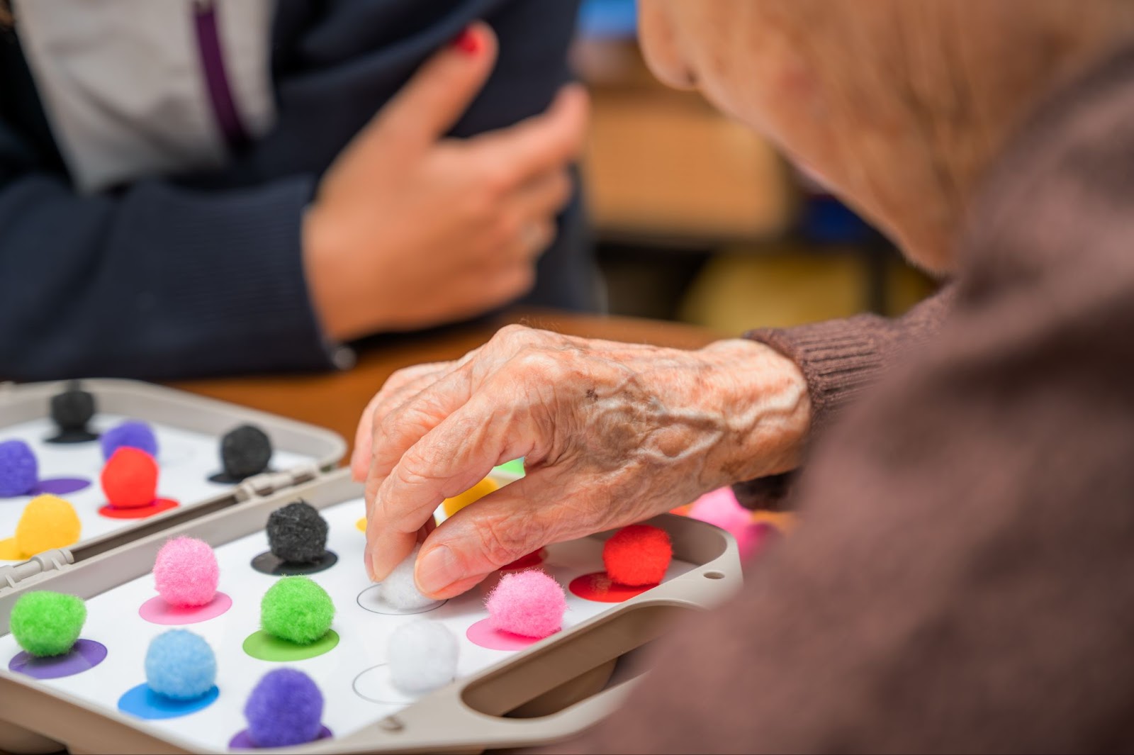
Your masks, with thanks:
[(939, 272), (1029, 110), (1134, 36), (1128, 0), (642, 0), (640, 12), (655, 74), (759, 128)]

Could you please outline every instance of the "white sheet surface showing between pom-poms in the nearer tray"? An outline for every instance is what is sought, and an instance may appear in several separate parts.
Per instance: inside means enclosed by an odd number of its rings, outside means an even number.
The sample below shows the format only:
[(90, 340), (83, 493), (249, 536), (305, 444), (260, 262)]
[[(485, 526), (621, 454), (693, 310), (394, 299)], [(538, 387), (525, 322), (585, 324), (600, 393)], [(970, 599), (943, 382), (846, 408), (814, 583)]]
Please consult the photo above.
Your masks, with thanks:
[[(374, 608), (367, 592), (373, 589), (373, 585), (363, 569), (365, 538), (356, 527), (364, 510), (363, 501), (355, 499), (321, 511), (330, 525), (328, 549), (337, 553), (339, 560), (330, 569), (312, 575), (312, 579), (322, 585), (335, 602), (332, 629), (340, 637), (336, 647), (316, 658), (286, 663), (247, 655), (243, 650), (244, 641), (259, 629), (260, 600), (277, 579), (251, 566), (253, 558), (268, 550), (268, 537), (260, 531), (220, 545), (215, 550), (220, 563), (220, 591), (231, 597), (232, 605), (213, 619), (179, 627), (200, 634), (212, 646), (217, 654), (220, 695), (209, 707), (184, 718), (143, 723), (202, 749), (227, 749), (232, 736), (246, 726), (243, 707), (256, 681), (268, 671), (288, 667), (306, 672), (319, 685), (325, 701), (323, 724), (336, 737), (358, 731), (415, 701), (389, 684), (382, 664), (390, 634), (403, 623), (417, 619), (440, 621), (458, 637), (458, 678), (472, 676), (518, 652), (483, 647), (466, 636), (472, 625), (488, 617), (483, 599), (486, 589), (494, 584), (491, 578), (471, 593), (417, 614), (383, 614), (364, 608), (363, 604)], [(602, 543), (598, 540), (560, 543), (545, 549), (540, 568), (566, 589), (576, 577), (602, 570), (601, 553)], [(666, 582), (694, 568), (693, 563), (675, 560)], [(153, 577), (147, 574), (90, 599), (88, 618), (82, 637), (105, 645), (105, 660), (76, 676), (35, 684), (74, 695), (110, 715), (120, 715), (117, 707), (119, 697), (145, 681), (144, 658), (150, 641), (175, 628), (150, 623), (138, 614), (139, 606), (154, 595)], [(569, 591), (567, 603), (565, 629), (619, 606), (618, 603), (583, 600)], [(18, 652), (19, 647), (10, 635), (0, 637), (0, 663), (7, 667)]]

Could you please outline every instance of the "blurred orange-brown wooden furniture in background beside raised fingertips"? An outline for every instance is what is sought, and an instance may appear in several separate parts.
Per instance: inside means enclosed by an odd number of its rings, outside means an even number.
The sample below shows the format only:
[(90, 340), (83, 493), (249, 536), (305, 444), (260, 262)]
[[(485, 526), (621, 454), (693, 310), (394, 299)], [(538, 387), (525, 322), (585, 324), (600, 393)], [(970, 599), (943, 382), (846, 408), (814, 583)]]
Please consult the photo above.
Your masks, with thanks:
[(658, 82), (631, 42), (584, 41), (575, 62), (593, 101), (583, 176), (600, 237), (763, 240), (789, 226), (794, 183), (765, 139)]

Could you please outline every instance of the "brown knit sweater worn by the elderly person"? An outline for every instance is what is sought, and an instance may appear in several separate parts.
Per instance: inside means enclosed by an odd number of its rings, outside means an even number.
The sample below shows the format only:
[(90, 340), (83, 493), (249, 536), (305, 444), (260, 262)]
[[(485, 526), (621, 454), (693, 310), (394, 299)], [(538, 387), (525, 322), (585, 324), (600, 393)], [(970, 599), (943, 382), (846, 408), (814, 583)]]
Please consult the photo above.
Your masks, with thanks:
[[(1004, 156), (954, 294), (816, 443), (806, 525), (569, 749), (1134, 749), (1134, 51)], [(822, 415), (875, 325), (767, 338)]]

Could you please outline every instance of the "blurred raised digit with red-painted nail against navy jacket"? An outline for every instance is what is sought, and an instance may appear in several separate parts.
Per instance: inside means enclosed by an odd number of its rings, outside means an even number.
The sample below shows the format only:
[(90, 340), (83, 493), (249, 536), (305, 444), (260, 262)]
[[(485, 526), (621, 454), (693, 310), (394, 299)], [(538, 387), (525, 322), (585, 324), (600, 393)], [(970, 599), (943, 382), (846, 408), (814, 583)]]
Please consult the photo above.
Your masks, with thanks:
[(497, 40), (483, 22), (469, 24), (426, 60), (366, 128), (375, 149), (397, 145), (405, 156), (430, 149), (457, 122), (488, 80)]

